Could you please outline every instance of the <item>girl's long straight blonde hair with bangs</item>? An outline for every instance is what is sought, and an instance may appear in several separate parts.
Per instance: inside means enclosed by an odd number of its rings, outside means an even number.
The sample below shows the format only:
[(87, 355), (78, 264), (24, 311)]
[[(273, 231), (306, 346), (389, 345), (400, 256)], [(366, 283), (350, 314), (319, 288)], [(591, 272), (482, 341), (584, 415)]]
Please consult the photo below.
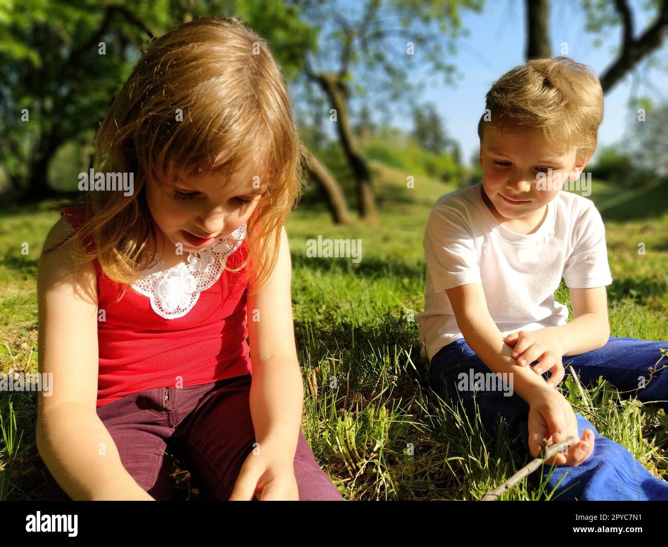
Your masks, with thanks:
[(299, 196), (302, 145), (283, 75), (265, 40), (234, 18), (212, 17), (154, 40), (114, 100), (95, 144), (98, 170), (134, 172), (134, 193), (87, 192), (83, 205), (92, 214), (73, 235), (90, 235), (95, 248), (75, 257), (77, 264), (98, 258), (110, 279), (132, 283), (157, 261), (147, 250), (148, 235), (157, 238), (146, 180), (231, 176), (253, 162), (267, 190), (246, 225), (248, 256), (232, 271), (250, 261), (251, 288), (266, 283), (277, 262), (281, 227)]

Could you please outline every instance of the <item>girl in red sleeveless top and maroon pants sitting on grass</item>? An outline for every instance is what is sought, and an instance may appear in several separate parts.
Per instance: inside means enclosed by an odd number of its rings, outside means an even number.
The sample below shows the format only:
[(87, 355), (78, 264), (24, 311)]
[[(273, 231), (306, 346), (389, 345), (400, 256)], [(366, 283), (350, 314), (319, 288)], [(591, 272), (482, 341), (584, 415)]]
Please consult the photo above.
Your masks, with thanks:
[[(299, 151), (279, 67), (242, 23), (197, 19), (140, 59), (96, 138), (104, 178), (39, 262), (53, 497), (174, 499), (169, 447), (216, 500), (342, 499), (300, 427), (283, 228)], [(131, 192), (103, 184), (122, 175)]]

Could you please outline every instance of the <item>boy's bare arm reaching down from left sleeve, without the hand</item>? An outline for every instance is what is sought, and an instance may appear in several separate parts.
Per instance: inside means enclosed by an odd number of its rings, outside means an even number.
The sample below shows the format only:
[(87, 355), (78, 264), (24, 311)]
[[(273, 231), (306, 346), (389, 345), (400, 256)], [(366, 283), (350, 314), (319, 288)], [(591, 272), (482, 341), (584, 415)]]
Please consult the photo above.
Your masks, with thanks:
[(464, 340), (491, 371), (513, 373), (514, 391), (529, 404), (541, 391), (553, 391), (542, 376), (530, 367), (520, 367), (512, 359), (512, 348), (504, 343), (501, 331), (490, 316), (480, 283), (446, 289), (446, 293)]

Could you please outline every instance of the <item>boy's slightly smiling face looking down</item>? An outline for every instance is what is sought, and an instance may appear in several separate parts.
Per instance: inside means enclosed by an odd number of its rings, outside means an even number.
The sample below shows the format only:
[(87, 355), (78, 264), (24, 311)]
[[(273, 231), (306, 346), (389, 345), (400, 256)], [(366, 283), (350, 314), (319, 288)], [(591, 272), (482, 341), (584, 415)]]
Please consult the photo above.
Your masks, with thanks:
[(566, 154), (556, 152), (540, 130), (502, 133), (488, 124), (478, 162), (485, 194), (500, 216), (512, 220), (542, 210), (569, 177), (577, 178), (585, 163), (576, 165), (575, 159), (574, 148)]

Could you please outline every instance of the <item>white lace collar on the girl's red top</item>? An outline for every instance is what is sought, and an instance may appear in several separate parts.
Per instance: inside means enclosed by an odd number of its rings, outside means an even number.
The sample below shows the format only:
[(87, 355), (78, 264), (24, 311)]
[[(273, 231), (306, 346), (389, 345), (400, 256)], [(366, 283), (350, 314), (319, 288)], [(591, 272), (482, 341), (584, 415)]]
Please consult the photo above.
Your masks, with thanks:
[(204, 250), (189, 252), (187, 265), (180, 262), (163, 270), (164, 260), (160, 260), (142, 272), (142, 278), (132, 288), (151, 299), (151, 307), (160, 317), (183, 317), (194, 307), (200, 293), (218, 281), (227, 257), (239, 248), (245, 236), (244, 224)]

